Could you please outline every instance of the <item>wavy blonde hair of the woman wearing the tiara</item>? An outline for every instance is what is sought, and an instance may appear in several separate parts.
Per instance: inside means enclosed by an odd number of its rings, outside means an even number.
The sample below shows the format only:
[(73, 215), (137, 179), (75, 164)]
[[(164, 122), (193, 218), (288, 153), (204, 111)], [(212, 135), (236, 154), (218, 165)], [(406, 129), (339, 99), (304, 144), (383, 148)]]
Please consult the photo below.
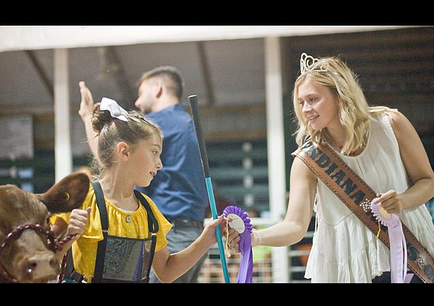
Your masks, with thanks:
[[(315, 131), (309, 120), (302, 115), (302, 105), (299, 102), (298, 88), (305, 80), (324, 85), (335, 97), (339, 118), (346, 131), (346, 142), (342, 153), (349, 154), (366, 147), (369, 137), (372, 113), (387, 112), (386, 106), (369, 107), (359, 85), (359, 78), (339, 57), (315, 59), (308, 69), (302, 68), (302, 73), (295, 80), (292, 91), (292, 102), (297, 117), (295, 142), (300, 146), (311, 139), (314, 144), (330, 142), (327, 129)], [(392, 110), (395, 111), (395, 110)]]

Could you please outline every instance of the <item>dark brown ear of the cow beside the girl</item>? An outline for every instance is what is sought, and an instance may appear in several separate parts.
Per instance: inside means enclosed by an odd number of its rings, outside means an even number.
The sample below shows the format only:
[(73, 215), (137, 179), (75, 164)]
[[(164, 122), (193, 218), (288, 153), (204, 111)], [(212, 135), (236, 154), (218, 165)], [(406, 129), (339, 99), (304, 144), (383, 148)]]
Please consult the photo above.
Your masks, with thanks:
[(53, 185), (45, 194), (41, 194), (42, 201), (52, 213), (78, 209), (88, 194), (89, 183), (87, 174), (74, 172)]

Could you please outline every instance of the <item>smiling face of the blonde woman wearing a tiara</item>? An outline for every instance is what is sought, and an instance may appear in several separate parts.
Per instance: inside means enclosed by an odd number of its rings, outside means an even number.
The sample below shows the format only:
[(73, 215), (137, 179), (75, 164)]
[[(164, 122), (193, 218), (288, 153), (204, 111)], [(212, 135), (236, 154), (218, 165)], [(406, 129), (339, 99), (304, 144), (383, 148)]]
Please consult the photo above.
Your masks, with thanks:
[(312, 129), (318, 131), (340, 125), (334, 95), (326, 86), (304, 80), (298, 86), (298, 102)]

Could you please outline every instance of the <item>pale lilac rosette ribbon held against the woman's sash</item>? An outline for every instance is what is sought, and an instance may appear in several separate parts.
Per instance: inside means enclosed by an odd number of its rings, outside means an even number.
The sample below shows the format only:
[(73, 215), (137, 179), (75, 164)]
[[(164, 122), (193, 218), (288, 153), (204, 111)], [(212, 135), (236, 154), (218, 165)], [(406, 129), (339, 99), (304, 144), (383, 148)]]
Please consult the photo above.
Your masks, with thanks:
[(379, 204), (372, 202), (371, 211), (377, 221), (388, 228), (388, 240), (391, 250), (391, 283), (407, 282), (406, 237), (399, 216), (396, 213), (388, 213)]

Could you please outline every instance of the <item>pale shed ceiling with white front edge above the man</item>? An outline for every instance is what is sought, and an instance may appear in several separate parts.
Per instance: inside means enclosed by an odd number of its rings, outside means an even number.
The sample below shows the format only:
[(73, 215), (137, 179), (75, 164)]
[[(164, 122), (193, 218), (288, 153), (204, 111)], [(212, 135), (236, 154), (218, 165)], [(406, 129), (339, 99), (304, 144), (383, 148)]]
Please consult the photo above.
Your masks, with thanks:
[(399, 26), (0, 26), (0, 113), (53, 114), (53, 48), (68, 48), (70, 109), (85, 80), (96, 101), (134, 105), (140, 75), (174, 65), (201, 105), (265, 103), (263, 38)]

